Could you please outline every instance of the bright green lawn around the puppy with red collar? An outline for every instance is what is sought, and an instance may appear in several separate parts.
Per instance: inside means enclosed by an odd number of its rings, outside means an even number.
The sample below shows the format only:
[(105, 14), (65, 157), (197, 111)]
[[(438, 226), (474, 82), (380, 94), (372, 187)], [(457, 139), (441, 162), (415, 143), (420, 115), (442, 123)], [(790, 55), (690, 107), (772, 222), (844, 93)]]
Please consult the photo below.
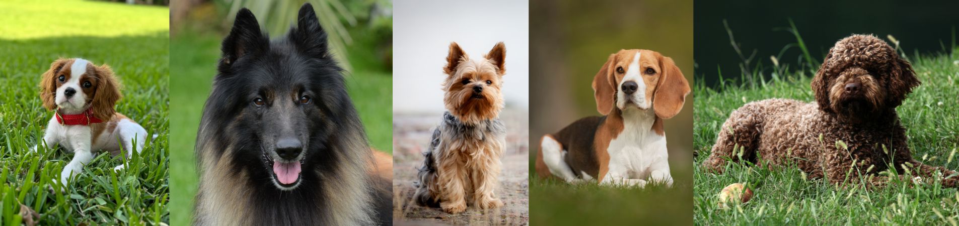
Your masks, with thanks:
[[(41, 225), (169, 222), (169, 10), (2, 1), (0, 11), (0, 222), (19, 225), (27, 208)], [(122, 159), (96, 155), (65, 192), (50, 184), (73, 155), (29, 151), (54, 114), (42, 107), (37, 83), (58, 57), (110, 65), (125, 85), (116, 110), (159, 135), (119, 173), (112, 169)]]

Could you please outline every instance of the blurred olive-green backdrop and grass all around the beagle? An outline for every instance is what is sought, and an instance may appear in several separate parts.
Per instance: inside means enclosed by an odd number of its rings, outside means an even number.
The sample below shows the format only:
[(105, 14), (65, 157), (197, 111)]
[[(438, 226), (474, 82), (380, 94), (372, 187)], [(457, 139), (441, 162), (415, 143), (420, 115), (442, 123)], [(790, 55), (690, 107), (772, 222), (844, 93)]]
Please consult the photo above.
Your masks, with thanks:
[(610, 54), (647, 49), (670, 56), (692, 79), (692, 1), (530, 2), (530, 222), (545, 225), (691, 224), (692, 100), (666, 120), (672, 189), (569, 186), (532, 169), (540, 138), (599, 115), (591, 83)]

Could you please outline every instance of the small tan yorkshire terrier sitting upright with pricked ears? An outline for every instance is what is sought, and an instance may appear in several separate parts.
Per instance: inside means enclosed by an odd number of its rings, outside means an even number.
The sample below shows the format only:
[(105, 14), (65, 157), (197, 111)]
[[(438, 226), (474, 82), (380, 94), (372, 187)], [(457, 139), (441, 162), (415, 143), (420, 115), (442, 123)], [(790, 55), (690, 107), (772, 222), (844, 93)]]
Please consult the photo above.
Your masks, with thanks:
[(423, 153), (426, 159), (415, 183), (418, 205), (449, 214), (465, 211), (467, 200), (479, 209), (503, 206), (493, 192), (506, 144), (506, 126), (500, 120), (505, 57), (503, 42), (477, 58), (463, 53), (456, 42), (450, 44), (442, 83), (447, 112)]

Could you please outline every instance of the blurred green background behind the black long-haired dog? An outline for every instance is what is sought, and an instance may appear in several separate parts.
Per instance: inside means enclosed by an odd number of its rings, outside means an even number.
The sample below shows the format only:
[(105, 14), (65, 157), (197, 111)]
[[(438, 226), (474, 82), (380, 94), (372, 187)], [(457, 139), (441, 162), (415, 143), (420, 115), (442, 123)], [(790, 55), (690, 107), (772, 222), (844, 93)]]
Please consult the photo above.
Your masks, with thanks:
[[(249, 8), (264, 31), (285, 34), (307, 1), (175, 1), (171, 4), (171, 112), (173, 130), (171, 223), (188, 225), (193, 217), (199, 171), (194, 158), (203, 103), (220, 59), (220, 42), (233, 15)], [(346, 73), (347, 89), (372, 147), (392, 150), (392, 4), (385, 0), (309, 1), (329, 34), (331, 49)]]

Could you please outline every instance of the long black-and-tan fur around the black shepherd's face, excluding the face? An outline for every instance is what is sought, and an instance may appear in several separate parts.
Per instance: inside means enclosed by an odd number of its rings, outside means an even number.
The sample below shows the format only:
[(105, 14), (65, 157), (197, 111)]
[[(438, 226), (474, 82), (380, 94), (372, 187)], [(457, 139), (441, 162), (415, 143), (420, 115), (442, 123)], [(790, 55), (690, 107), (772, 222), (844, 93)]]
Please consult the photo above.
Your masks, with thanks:
[[(313, 21), (310, 21), (313, 20)], [(253, 14), (244, 9), (223, 41), (223, 58), (213, 90), (203, 108), (196, 154), (200, 185), (195, 225), (373, 225), (384, 219), (384, 198), (370, 176), (372, 159), (363, 124), (346, 92), (341, 69), (326, 52), (326, 34), (316, 23), (310, 4), (299, 12), (299, 26), (287, 36), (269, 41)], [(318, 30), (318, 31), (317, 31)], [(251, 78), (278, 70), (275, 78)], [(296, 70), (311, 74), (283, 73)], [(244, 74), (246, 73), (246, 74)], [(245, 76), (246, 75), (246, 76)], [(300, 185), (278, 190), (265, 178), (264, 151), (256, 127), (249, 122), (269, 119), (244, 111), (252, 84), (285, 84), (287, 80), (321, 87), (316, 95), (319, 115), (307, 122), (310, 132)], [(252, 156), (252, 157), (251, 157)], [(388, 205), (389, 202), (386, 201)], [(375, 219), (380, 214), (380, 219)]]

